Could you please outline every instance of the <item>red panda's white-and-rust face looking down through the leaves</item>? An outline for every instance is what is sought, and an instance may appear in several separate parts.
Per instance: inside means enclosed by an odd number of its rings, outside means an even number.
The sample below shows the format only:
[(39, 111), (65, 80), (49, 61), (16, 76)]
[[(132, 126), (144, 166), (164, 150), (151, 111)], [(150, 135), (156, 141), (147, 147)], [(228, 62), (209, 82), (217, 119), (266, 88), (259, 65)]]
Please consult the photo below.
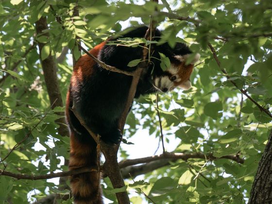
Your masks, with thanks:
[(179, 63), (171, 63), (171, 67), (162, 73), (160, 76), (156, 76), (153, 79), (153, 85), (155, 88), (162, 92), (167, 92), (175, 87), (181, 87), (184, 90), (188, 90), (191, 87), (190, 75), (193, 71), (194, 64), (200, 59), (200, 54), (196, 54), (193, 61), (186, 65), (186, 60), (190, 54), (175, 55), (174, 57)]

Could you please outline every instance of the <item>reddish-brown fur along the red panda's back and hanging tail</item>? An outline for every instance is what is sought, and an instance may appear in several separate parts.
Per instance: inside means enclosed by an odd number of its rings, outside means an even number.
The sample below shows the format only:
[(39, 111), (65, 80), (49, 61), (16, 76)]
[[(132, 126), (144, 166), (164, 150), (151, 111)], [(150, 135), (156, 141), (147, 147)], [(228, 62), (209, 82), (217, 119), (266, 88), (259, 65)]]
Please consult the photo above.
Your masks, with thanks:
[[(106, 42), (94, 47), (89, 52), (95, 57)], [(81, 56), (76, 63), (71, 77), (71, 84), (76, 85), (78, 81), (83, 80), (83, 76), (92, 74), (92, 67), (95, 62), (87, 54)], [(70, 99), (70, 90), (68, 90), (66, 98), (66, 119), (70, 124), (70, 117), (74, 117), (70, 108), (72, 101)], [(99, 158), (96, 152), (96, 146), (81, 143), (78, 141), (77, 131), (70, 124), (70, 161), (69, 170), (80, 167), (97, 166)], [(89, 136), (89, 135), (88, 135)], [(100, 174), (97, 172), (82, 173), (70, 177), (71, 192), (74, 197), (75, 204), (102, 204), (102, 192), (100, 189)]]

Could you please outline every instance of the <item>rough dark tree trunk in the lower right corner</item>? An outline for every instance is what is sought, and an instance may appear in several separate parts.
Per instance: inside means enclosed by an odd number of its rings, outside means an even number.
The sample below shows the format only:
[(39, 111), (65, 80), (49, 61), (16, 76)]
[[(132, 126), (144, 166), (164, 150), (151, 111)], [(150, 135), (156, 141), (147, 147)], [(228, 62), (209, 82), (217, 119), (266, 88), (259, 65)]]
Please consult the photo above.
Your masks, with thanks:
[(272, 131), (259, 162), (250, 192), (249, 204), (272, 203)]

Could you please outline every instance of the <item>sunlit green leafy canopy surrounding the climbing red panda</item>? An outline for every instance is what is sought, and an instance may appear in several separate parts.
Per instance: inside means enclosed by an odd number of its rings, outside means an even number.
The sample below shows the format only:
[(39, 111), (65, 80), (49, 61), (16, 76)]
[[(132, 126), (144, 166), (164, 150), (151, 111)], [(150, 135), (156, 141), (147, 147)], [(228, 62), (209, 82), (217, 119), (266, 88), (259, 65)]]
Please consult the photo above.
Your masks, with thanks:
[[(115, 193), (126, 194), (126, 190), (132, 203), (271, 199), (271, 190), (255, 196), (258, 189), (271, 189), (263, 187), (269, 178), (262, 176), (272, 175), (270, 1), (2, 0), (3, 203), (72, 202), (67, 176), (93, 169), (68, 171), (67, 167), (69, 138), (63, 106), (72, 72), (70, 53), (77, 60), (84, 53), (77, 42), (90, 49), (112, 34), (126, 32), (127, 24), (138, 26), (139, 20), (146, 25), (156, 21), (154, 26), (164, 30), (161, 42), (170, 46), (186, 42), (202, 57), (188, 91), (175, 89), (134, 102), (119, 149), (125, 187), (113, 188), (104, 174), (104, 197), (117, 201)], [(120, 44), (150, 43), (144, 37)], [(150, 146), (163, 144), (165, 151), (130, 159), (131, 152), (124, 148), (133, 146), (130, 140), (139, 128), (148, 130), (146, 137), (155, 136)], [(173, 146), (175, 150), (167, 152)], [(47, 180), (58, 177), (60, 185)]]

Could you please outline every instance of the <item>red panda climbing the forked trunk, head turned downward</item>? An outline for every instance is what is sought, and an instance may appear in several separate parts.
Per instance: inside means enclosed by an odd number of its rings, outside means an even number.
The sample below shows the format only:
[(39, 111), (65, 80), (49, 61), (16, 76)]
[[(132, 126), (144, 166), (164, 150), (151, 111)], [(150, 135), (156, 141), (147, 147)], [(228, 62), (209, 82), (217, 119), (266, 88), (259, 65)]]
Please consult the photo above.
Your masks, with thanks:
[[(143, 37), (147, 27), (136, 28), (122, 37)], [(161, 33), (156, 30), (154, 40), (159, 40)], [(107, 41), (116, 40), (111, 37)], [(133, 71), (136, 67), (128, 67), (128, 63), (141, 59), (141, 47), (108, 45), (106, 42), (89, 51), (107, 65), (121, 70)], [(160, 68), (159, 52), (170, 59), (171, 66), (166, 71)], [(167, 43), (154, 46), (152, 66), (140, 78), (135, 98), (157, 91), (167, 92), (176, 86), (188, 89), (193, 64), (199, 54), (189, 65), (187, 57), (191, 51), (183, 43), (177, 43), (172, 49)], [(66, 119), (70, 130), (69, 170), (79, 167), (97, 166), (97, 144), (80, 124), (71, 108), (73, 107), (85, 124), (101, 139), (109, 144), (118, 144), (122, 137), (118, 129), (118, 121), (127, 101), (132, 76), (111, 72), (101, 68), (88, 55), (83, 55), (76, 63), (67, 93)], [(71, 192), (75, 204), (102, 204), (102, 193), (97, 172), (88, 172), (71, 176)]]

